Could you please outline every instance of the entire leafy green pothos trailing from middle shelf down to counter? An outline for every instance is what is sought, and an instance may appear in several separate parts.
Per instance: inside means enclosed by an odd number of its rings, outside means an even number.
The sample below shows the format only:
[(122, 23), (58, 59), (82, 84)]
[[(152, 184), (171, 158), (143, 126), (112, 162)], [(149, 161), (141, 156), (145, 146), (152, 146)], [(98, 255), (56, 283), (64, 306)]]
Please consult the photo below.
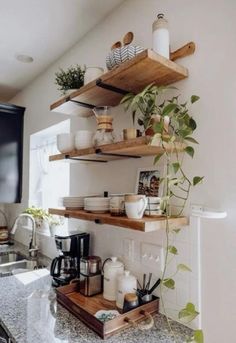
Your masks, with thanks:
[[(193, 158), (194, 148), (192, 145), (198, 144), (192, 137), (197, 124), (189, 113), (189, 103), (181, 103), (179, 96), (173, 96), (171, 99), (158, 103), (159, 95), (167, 89), (176, 88), (158, 87), (151, 84), (139, 94), (127, 94), (121, 102), (125, 105), (126, 110), (132, 110), (133, 120), (135, 120), (136, 114), (139, 115), (138, 124), (143, 125), (145, 131), (151, 128), (153, 137), (150, 144), (162, 147), (162, 151), (154, 159), (154, 164), (162, 160), (165, 165), (165, 175), (162, 175), (161, 178), (163, 183), (161, 209), (165, 216), (166, 249), (160, 285), (160, 298), (169, 329), (174, 335), (171, 321), (166, 314), (163, 292), (165, 289), (173, 290), (175, 288), (174, 276), (179, 271), (191, 272), (191, 269), (189, 266), (181, 263), (177, 265), (174, 275), (168, 275), (168, 263), (174, 256), (178, 255), (178, 249), (172, 242), (174, 237), (181, 231), (181, 227), (173, 228), (172, 226), (170, 228), (169, 220), (173, 214), (177, 217), (182, 215), (191, 188), (199, 184), (203, 177), (194, 176), (190, 178), (183, 167), (184, 156), (187, 154)], [(198, 100), (198, 96), (192, 95), (190, 104)], [(168, 118), (168, 128), (166, 118)], [(196, 310), (195, 305), (189, 302), (179, 311), (178, 318), (186, 324), (194, 320), (198, 315), (199, 312)], [(187, 342), (203, 343), (202, 330), (195, 330), (193, 336), (187, 338)]]

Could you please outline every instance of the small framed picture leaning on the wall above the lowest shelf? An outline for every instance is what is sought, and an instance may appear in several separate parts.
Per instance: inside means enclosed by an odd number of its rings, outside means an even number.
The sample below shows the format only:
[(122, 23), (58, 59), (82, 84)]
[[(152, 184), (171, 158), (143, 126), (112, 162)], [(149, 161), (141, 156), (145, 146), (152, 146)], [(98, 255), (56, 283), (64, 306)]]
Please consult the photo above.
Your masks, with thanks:
[(161, 168), (140, 168), (137, 173), (136, 194), (144, 194), (151, 197), (161, 197)]

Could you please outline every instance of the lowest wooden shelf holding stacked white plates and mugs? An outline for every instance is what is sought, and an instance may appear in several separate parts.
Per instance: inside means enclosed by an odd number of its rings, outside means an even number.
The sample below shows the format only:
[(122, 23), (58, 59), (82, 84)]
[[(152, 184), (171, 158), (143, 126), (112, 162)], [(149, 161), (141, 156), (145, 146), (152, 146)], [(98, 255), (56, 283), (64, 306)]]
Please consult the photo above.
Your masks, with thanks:
[[(141, 232), (158, 231), (165, 228), (166, 218), (143, 217), (142, 219), (129, 219), (127, 217), (114, 217), (110, 213), (90, 213), (84, 210), (65, 210), (65, 209), (49, 209), (50, 214), (64, 216), (69, 218), (77, 218), (82, 220), (93, 221), (98, 224), (109, 224), (127, 229), (132, 229)], [(188, 225), (187, 217), (171, 217), (169, 219), (169, 227), (176, 228)]]

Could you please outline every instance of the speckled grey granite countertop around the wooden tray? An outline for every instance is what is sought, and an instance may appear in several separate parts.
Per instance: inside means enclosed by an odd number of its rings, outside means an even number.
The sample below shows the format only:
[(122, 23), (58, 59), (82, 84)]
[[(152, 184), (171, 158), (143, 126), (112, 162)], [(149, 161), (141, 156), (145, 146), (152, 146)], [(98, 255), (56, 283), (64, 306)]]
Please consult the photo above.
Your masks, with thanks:
[[(7, 248), (21, 250), (22, 247)], [(3, 248), (0, 249), (3, 251)], [(33, 277), (32, 277), (32, 273)], [(35, 274), (36, 273), (36, 274)], [(0, 324), (17, 343), (98, 343), (103, 340), (56, 303), (51, 277), (43, 269), (0, 278)], [(21, 276), (20, 276), (21, 275)], [(175, 339), (162, 315), (154, 316), (151, 330), (129, 328), (107, 338), (108, 343), (183, 343), (191, 330), (174, 323)]]

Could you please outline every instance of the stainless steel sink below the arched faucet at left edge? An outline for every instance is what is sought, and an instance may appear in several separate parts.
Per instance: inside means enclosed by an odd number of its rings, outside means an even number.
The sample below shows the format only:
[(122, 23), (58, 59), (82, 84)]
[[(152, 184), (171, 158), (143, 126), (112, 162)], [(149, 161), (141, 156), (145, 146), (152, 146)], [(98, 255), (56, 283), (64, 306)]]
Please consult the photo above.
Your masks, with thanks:
[(0, 277), (10, 276), (17, 272), (31, 271), (37, 267), (37, 261), (27, 260), (18, 252), (0, 253)]

